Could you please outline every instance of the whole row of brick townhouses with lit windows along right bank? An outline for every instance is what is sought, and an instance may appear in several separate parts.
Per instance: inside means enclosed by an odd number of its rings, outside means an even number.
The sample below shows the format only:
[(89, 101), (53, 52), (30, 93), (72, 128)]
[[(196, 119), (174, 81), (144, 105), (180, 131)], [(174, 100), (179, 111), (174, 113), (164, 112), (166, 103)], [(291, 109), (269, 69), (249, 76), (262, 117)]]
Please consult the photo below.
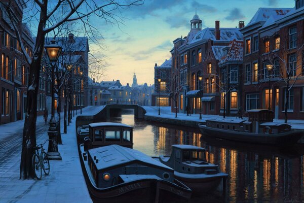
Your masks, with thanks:
[(294, 8), (259, 8), (246, 26), (232, 28), (215, 21), (202, 29), (194, 15), (188, 35), (173, 41), (171, 59), (155, 65), (152, 104), (229, 116), (270, 109), (280, 119), (286, 108), (289, 119), (303, 118), (303, 19), (304, 0)]

